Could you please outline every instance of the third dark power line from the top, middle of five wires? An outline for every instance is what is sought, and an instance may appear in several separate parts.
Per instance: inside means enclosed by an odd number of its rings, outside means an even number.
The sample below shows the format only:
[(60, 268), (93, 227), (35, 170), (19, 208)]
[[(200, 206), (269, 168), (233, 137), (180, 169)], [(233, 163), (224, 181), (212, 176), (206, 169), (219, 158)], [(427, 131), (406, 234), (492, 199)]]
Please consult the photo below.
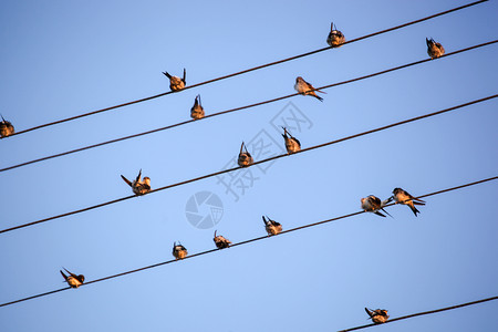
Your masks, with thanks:
[[(468, 103), (465, 103), (465, 104), (459, 104), (459, 105), (456, 105), (456, 106), (453, 106), (453, 107), (449, 107), (449, 108), (445, 108), (445, 110), (440, 110), (440, 111), (437, 111), (437, 112), (428, 113), (428, 114), (425, 114), (425, 115), (412, 117), (412, 118), (404, 120), (404, 121), (401, 121), (401, 122), (396, 122), (396, 123), (393, 123), (393, 124), (390, 124), (390, 125), (377, 127), (377, 128), (374, 128), (374, 129), (371, 129), (371, 131), (366, 131), (366, 132), (363, 132), (363, 133), (360, 133), (360, 134), (354, 134), (354, 135), (351, 135), (351, 136), (346, 136), (346, 137), (343, 137), (343, 138), (340, 138), (340, 139), (330, 141), (330, 142), (323, 143), (323, 144), (319, 144), (319, 145), (314, 145), (314, 146), (311, 146), (311, 147), (302, 148), (300, 152), (293, 153), (291, 155), (287, 155), (287, 154), (277, 155), (277, 156), (273, 156), (273, 157), (270, 157), (270, 158), (267, 158), (267, 159), (255, 162), (251, 166), (258, 165), (258, 164), (268, 163), (268, 162), (271, 162), (271, 160), (274, 160), (274, 159), (278, 159), (278, 158), (282, 158), (282, 157), (298, 155), (300, 153), (305, 153), (305, 152), (309, 152), (309, 151), (312, 151), (312, 149), (315, 149), (315, 148), (333, 145), (333, 144), (336, 144), (336, 143), (340, 143), (340, 142), (349, 141), (349, 139), (356, 138), (356, 137), (360, 137), (360, 136), (364, 136), (364, 135), (367, 135), (367, 134), (381, 132), (381, 131), (384, 131), (384, 129), (387, 129), (387, 128), (391, 128), (391, 127), (395, 127), (395, 126), (403, 125), (403, 124), (406, 124), (406, 123), (411, 123), (411, 122), (415, 122), (415, 121), (423, 120), (423, 118), (426, 118), (426, 117), (435, 116), (435, 115), (438, 115), (438, 114), (452, 112), (452, 111), (455, 111), (455, 110), (458, 110), (458, 108), (461, 108), (461, 107), (465, 107), (465, 106), (469, 106), (469, 105), (473, 105), (473, 104), (481, 103), (481, 102), (485, 102), (485, 101), (488, 101), (488, 100), (492, 100), (492, 98), (496, 98), (496, 97), (498, 97), (498, 94), (495, 94), (495, 95), (491, 95), (491, 96), (487, 96), (487, 97), (484, 97), (484, 98), (479, 98), (479, 100), (475, 100), (475, 101), (471, 101), (471, 102), (468, 102)], [(221, 175), (221, 174), (225, 174), (225, 173), (234, 172), (234, 170), (237, 170), (237, 169), (240, 169), (240, 168), (241, 167), (228, 168), (228, 169), (219, 170), (219, 172), (211, 173), (211, 174), (208, 174), (208, 175), (203, 175), (203, 176), (199, 176), (199, 177), (196, 177), (196, 178), (191, 178), (191, 179), (188, 179), (188, 180), (184, 180), (184, 181), (180, 181), (180, 183), (176, 183), (176, 184), (173, 184), (173, 185), (159, 187), (157, 189), (151, 190), (151, 193), (147, 194), (147, 195), (151, 195), (152, 193), (157, 193), (157, 191), (160, 191), (160, 190), (169, 189), (169, 188), (173, 188), (173, 187), (186, 185), (186, 184), (189, 184), (189, 183), (198, 181), (198, 180), (201, 180), (201, 179), (205, 179), (205, 178), (209, 178), (209, 177), (214, 177), (214, 176), (217, 176), (217, 175)], [(135, 195), (126, 196), (126, 197), (117, 198), (117, 199), (110, 200), (110, 201), (106, 201), (106, 203), (102, 203), (102, 204), (97, 204), (97, 205), (94, 205), (94, 206), (90, 206), (90, 207), (86, 207), (86, 208), (83, 208), (83, 209), (65, 212), (65, 214), (62, 214), (62, 215), (52, 216), (52, 217), (49, 217), (49, 218), (40, 219), (40, 220), (37, 220), (37, 221), (31, 221), (31, 222), (19, 225), (19, 226), (14, 226), (14, 227), (11, 227), (11, 228), (6, 228), (6, 229), (0, 230), (0, 234), (12, 231), (12, 230), (24, 228), (24, 227), (29, 227), (29, 226), (33, 226), (33, 225), (38, 225), (38, 224), (41, 224), (41, 222), (46, 222), (46, 221), (59, 219), (59, 218), (66, 217), (66, 216), (76, 215), (76, 214), (84, 212), (84, 211), (87, 211), (87, 210), (93, 210), (93, 209), (96, 209), (96, 208), (100, 208), (100, 207), (104, 207), (104, 206), (112, 205), (112, 204), (115, 204), (115, 203), (118, 203), (118, 201), (127, 200), (127, 199), (131, 199), (131, 198), (134, 198), (134, 197), (137, 197), (137, 196), (135, 196)]]

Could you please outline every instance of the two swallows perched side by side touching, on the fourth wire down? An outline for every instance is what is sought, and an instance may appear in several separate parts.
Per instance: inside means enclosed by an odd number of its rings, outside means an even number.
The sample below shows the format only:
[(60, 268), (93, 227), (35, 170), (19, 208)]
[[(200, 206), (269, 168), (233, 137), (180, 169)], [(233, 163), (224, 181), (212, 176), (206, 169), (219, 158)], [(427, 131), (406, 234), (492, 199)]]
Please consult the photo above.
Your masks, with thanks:
[(394, 199), (395, 204), (407, 205), (415, 217), (421, 211), (415, 207), (415, 205), (425, 205), (425, 201), (418, 198), (413, 197), (407, 191), (402, 188), (394, 188), (393, 196), (387, 198), (386, 200), (381, 200), (381, 198), (370, 195), (361, 199), (361, 206), (364, 211), (373, 212), (377, 216), (385, 217), (380, 210), (384, 211), (386, 215), (392, 217), (386, 210), (384, 210), (384, 206), (390, 204)]

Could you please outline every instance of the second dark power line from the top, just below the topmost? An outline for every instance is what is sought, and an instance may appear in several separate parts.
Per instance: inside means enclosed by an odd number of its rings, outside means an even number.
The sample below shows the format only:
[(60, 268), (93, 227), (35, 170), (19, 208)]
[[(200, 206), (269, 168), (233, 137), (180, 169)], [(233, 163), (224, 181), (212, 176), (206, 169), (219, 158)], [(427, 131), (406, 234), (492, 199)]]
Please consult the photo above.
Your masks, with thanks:
[[(497, 43), (497, 42), (498, 42), (498, 40), (494, 40), (494, 41), (490, 41), (490, 42), (486, 42), (486, 43), (481, 43), (481, 44), (478, 44), (478, 45), (469, 46), (469, 48), (466, 48), (466, 49), (461, 49), (461, 50), (458, 50), (458, 51), (455, 51), (455, 52), (447, 53), (447, 54), (443, 55), (442, 58), (455, 55), (455, 54), (458, 54), (458, 53), (461, 53), (461, 52), (470, 51), (470, 50), (483, 48), (483, 46), (487, 46), (487, 45), (490, 45), (490, 44), (494, 44), (494, 43)], [(347, 83), (353, 83), (353, 82), (356, 82), (356, 81), (361, 81), (361, 80), (374, 77), (374, 76), (377, 76), (377, 75), (386, 74), (386, 73), (390, 73), (390, 72), (393, 72), (393, 71), (397, 71), (397, 70), (405, 69), (405, 68), (408, 68), (408, 66), (417, 65), (417, 64), (425, 63), (425, 62), (428, 62), (428, 61), (432, 61), (432, 59), (424, 59), (424, 60), (419, 60), (419, 61), (416, 61), (416, 62), (412, 62), (412, 63), (403, 64), (403, 65), (400, 65), (400, 66), (391, 68), (391, 69), (381, 71), (381, 72), (376, 72), (376, 73), (367, 74), (367, 75), (364, 75), (364, 76), (351, 79), (351, 80), (347, 80), (347, 81), (332, 83), (332, 84), (329, 84), (329, 85), (317, 87), (315, 90), (324, 90), (324, 89), (330, 89), (330, 87), (334, 87), (334, 86), (339, 86), (339, 85), (343, 85), (343, 84), (347, 84)], [(111, 141), (106, 141), (106, 142), (102, 142), (102, 143), (97, 143), (97, 144), (80, 147), (80, 148), (76, 148), (76, 149), (63, 152), (63, 153), (60, 153), (60, 154), (55, 154), (55, 155), (51, 155), (51, 156), (46, 156), (46, 157), (42, 157), (42, 158), (29, 160), (29, 162), (24, 162), (24, 163), (21, 163), (21, 164), (17, 164), (17, 165), (12, 165), (12, 166), (9, 166), (9, 167), (0, 168), (0, 173), (1, 172), (6, 172), (6, 170), (10, 170), (10, 169), (14, 169), (14, 168), (18, 168), (18, 167), (22, 167), (22, 166), (27, 166), (27, 165), (31, 165), (31, 164), (35, 164), (35, 163), (40, 163), (40, 162), (44, 162), (44, 160), (49, 160), (49, 159), (52, 159), (52, 158), (62, 157), (62, 156), (65, 156), (65, 155), (79, 153), (79, 152), (82, 152), (82, 151), (85, 151), (85, 149), (91, 149), (91, 148), (95, 148), (95, 147), (98, 147), (98, 146), (103, 146), (103, 145), (107, 145), (107, 144), (112, 144), (112, 143), (117, 143), (117, 142), (121, 142), (121, 141), (135, 138), (135, 137), (139, 137), (139, 136), (143, 136), (143, 135), (153, 134), (153, 133), (157, 133), (157, 132), (160, 132), (160, 131), (170, 129), (170, 128), (178, 127), (178, 126), (191, 123), (191, 122), (198, 122), (198, 121), (201, 121), (204, 118), (214, 117), (214, 116), (218, 116), (218, 115), (222, 115), (222, 114), (227, 114), (227, 113), (232, 113), (232, 112), (237, 112), (237, 111), (241, 111), (241, 110), (247, 110), (247, 108), (251, 108), (251, 107), (256, 107), (256, 106), (260, 106), (260, 105), (264, 105), (264, 104), (269, 104), (269, 103), (274, 103), (274, 102), (278, 102), (278, 101), (281, 101), (281, 100), (286, 100), (286, 98), (289, 98), (289, 97), (293, 97), (293, 96), (297, 96), (297, 95), (300, 95), (300, 94), (299, 93), (293, 93), (293, 94), (284, 95), (284, 96), (281, 96), (281, 97), (277, 97), (277, 98), (259, 102), (259, 103), (256, 103), (256, 104), (250, 104), (250, 105), (246, 105), (246, 106), (240, 106), (240, 107), (236, 107), (236, 108), (221, 111), (221, 112), (218, 112), (218, 113), (212, 113), (212, 114), (206, 115), (205, 117), (199, 118), (199, 120), (184, 121), (184, 122), (176, 123), (176, 124), (173, 124), (173, 125), (168, 125), (168, 126), (165, 126), (165, 127), (160, 127), (160, 128), (156, 128), (156, 129), (152, 129), (152, 131), (147, 131), (147, 132), (129, 135), (129, 136), (124, 136), (124, 137), (120, 137), (120, 138), (115, 138), (115, 139), (111, 139)]]

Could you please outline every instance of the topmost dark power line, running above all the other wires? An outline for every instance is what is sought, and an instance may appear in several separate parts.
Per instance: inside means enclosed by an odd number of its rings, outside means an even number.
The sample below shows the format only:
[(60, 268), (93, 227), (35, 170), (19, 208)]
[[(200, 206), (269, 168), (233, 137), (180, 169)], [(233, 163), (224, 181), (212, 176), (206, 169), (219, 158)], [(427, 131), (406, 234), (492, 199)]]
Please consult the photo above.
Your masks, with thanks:
[[(413, 25), (413, 24), (416, 24), (416, 23), (419, 23), (419, 22), (423, 22), (423, 21), (427, 21), (427, 20), (437, 18), (437, 17), (440, 17), (440, 15), (444, 15), (444, 14), (447, 14), (447, 13), (450, 13), (450, 12), (455, 12), (455, 11), (458, 11), (458, 10), (461, 10), (461, 9), (466, 9), (466, 8), (469, 8), (469, 7), (473, 7), (473, 6), (483, 3), (483, 2), (487, 2), (487, 1), (488, 0), (475, 1), (475, 2), (471, 2), (471, 3), (468, 3), (468, 4), (464, 4), (464, 6), (456, 7), (456, 8), (446, 10), (446, 11), (442, 11), (439, 13), (436, 13), (436, 14), (433, 14), (433, 15), (429, 15), (429, 17), (425, 17), (425, 18), (422, 18), (422, 19), (418, 19), (418, 20), (415, 20), (415, 21), (411, 21), (408, 23), (404, 23), (404, 24), (401, 24), (401, 25), (396, 25), (396, 27), (393, 27), (393, 28), (388, 28), (388, 29), (385, 29), (385, 30), (381, 30), (381, 31), (377, 31), (377, 32), (365, 34), (363, 37), (360, 37), (360, 38), (346, 41), (346, 42), (343, 43), (343, 45), (344, 44), (349, 44), (349, 43), (354, 43), (354, 42), (357, 42), (357, 41), (361, 41), (361, 40), (364, 40), (364, 39), (367, 39), (367, 38), (372, 38), (372, 37), (378, 35), (378, 34), (383, 34), (383, 33), (386, 33), (386, 32), (391, 32), (391, 31), (394, 31), (394, 30), (397, 30), (397, 29), (402, 29), (402, 28), (405, 28), (405, 27), (408, 27), (408, 25)], [(251, 68), (251, 69), (247, 69), (247, 70), (240, 71), (240, 72), (228, 74), (228, 75), (225, 75), (225, 76), (220, 76), (220, 77), (211, 79), (211, 80), (204, 81), (204, 82), (200, 82), (200, 83), (197, 83), (197, 84), (188, 85), (188, 86), (185, 86), (185, 89), (183, 89), (181, 91), (188, 90), (188, 89), (193, 89), (193, 87), (197, 87), (197, 86), (201, 86), (201, 85), (209, 84), (209, 83), (214, 83), (214, 82), (217, 82), (217, 81), (226, 80), (226, 79), (229, 79), (229, 77), (238, 76), (238, 75), (241, 75), (241, 74), (245, 74), (245, 73), (249, 73), (249, 72), (252, 72), (252, 71), (256, 71), (256, 70), (260, 70), (260, 69), (263, 69), (263, 68), (267, 68), (267, 66), (272, 66), (272, 65), (276, 65), (276, 64), (284, 63), (284, 62), (288, 62), (288, 61), (291, 61), (291, 60), (304, 58), (304, 56), (312, 55), (312, 54), (315, 54), (315, 53), (320, 53), (320, 52), (323, 52), (323, 51), (326, 51), (326, 50), (330, 50), (330, 49), (332, 49), (332, 48), (331, 46), (326, 46), (326, 48), (323, 48), (323, 49), (319, 49), (319, 50), (314, 50), (314, 51), (311, 51), (311, 52), (302, 53), (302, 54), (294, 55), (294, 56), (291, 56), (291, 58), (287, 58), (287, 59), (278, 60), (278, 61), (270, 62), (270, 63), (267, 63), (267, 64), (258, 65), (258, 66), (255, 66), (255, 68)], [(89, 112), (89, 113), (75, 115), (75, 116), (72, 116), (72, 117), (68, 117), (68, 118), (50, 122), (50, 123), (38, 125), (38, 126), (34, 126), (34, 127), (31, 127), (31, 128), (28, 128), (28, 129), (24, 129), (24, 131), (20, 131), (18, 133), (14, 133), (14, 134), (8, 136), (8, 137), (12, 137), (12, 136), (15, 136), (15, 135), (20, 135), (20, 134), (24, 134), (24, 133), (32, 132), (32, 131), (35, 131), (35, 129), (40, 129), (40, 128), (43, 128), (43, 127), (56, 125), (56, 124), (60, 124), (60, 123), (73, 121), (73, 120), (76, 120), (76, 118), (90, 116), (90, 115), (93, 115), (93, 114), (97, 114), (97, 113), (102, 113), (102, 112), (106, 112), (106, 111), (111, 111), (111, 110), (116, 110), (116, 108), (120, 108), (120, 107), (124, 107), (124, 106), (128, 106), (128, 105), (133, 105), (133, 104), (137, 104), (137, 103), (142, 103), (142, 102), (151, 101), (151, 100), (154, 100), (154, 98), (158, 98), (158, 97), (168, 95), (170, 93), (173, 93), (173, 92), (169, 91), (169, 92), (165, 92), (165, 93), (159, 93), (159, 94), (156, 94), (156, 95), (153, 95), (153, 96), (148, 96), (148, 97), (144, 97), (144, 98), (139, 98), (139, 100), (136, 100), (136, 101), (132, 101), (132, 102), (127, 102), (127, 103), (123, 103), (123, 104), (118, 104), (118, 105), (114, 105), (114, 106), (110, 106), (110, 107), (92, 111), (92, 112)]]

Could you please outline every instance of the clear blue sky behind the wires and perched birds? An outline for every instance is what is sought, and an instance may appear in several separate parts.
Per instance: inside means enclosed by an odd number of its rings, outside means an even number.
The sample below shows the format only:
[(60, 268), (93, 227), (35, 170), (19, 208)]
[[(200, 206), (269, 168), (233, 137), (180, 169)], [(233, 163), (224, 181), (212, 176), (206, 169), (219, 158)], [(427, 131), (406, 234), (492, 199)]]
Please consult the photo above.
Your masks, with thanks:
[[(324, 48), (331, 21), (354, 39), (468, 2), (3, 0), (0, 113), (22, 131), (168, 91), (163, 71), (186, 68), (194, 84)], [(490, 1), (2, 139), (0, 167), (189, 120), (199, 93), (210, 114), (291, 94), (298, 75), (321, 86), (426, 59), (426, 37), (447, 52), (495, 40), (497, 14)], [(494, 44), (326, 90), (323, 103), (295, 96), (0, 173), (0, 227), (128, 196), (120, 175), (141, 168), (153, 188), (220, 170), (242, 141), (273, 142), (276, 153), (283, 139), (274, 126), (284, 120), (309, 147), (496, 94), (497, 59)], [(394, 187), (424, 195), (496, 176), (497, 106), (494, 100), (249, 168), (257, 179), (243, 193), (209, 178), (2, 234), (0, 302), (64, 287), (62, 267), (90, 281), (169, 260), (174, 241), (189, 253), (212, 249), (215, 229), (232, 242), (263, 236), (261, 215), (289, 229), (357, 211), (360, 198), (385, 199)], [(291, 111), (305, 118), (299, 127)], [(256, 159), (264, 156), (255, 151)], [(367, 323), (364, 307), (394, 318), (497, 295), (497, 188), (491, 181), (427, 198), (417, 218), (395, 206), (394, 218), (363, 214), (0, 308), (0, 331), (324, 332)], [(187, 220), (186, 204), (200, 191), (222, 201), (212, 228)], [(495, 301), (373, 329), (496, 331), (497, 310)]]

